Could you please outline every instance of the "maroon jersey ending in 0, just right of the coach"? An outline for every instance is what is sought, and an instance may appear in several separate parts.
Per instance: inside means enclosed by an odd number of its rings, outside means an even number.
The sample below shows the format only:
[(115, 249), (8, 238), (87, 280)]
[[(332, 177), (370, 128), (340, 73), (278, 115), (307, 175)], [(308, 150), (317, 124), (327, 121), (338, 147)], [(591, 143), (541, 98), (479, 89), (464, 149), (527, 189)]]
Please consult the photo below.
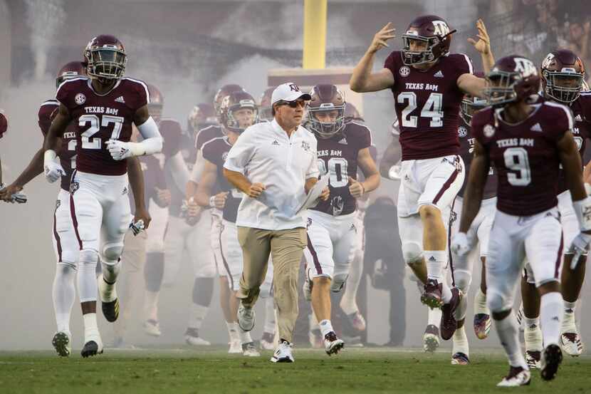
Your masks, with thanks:
[(357, 199), (349, 192), (349, 177), (357, 179), (357, 154), (372, 145), (370, 129), (350, 122), (333, 138), (317, 140), (318, 170), (320, 177), (329, 177), (330, 198), (312, 209), (333, 216), (355, 212)]

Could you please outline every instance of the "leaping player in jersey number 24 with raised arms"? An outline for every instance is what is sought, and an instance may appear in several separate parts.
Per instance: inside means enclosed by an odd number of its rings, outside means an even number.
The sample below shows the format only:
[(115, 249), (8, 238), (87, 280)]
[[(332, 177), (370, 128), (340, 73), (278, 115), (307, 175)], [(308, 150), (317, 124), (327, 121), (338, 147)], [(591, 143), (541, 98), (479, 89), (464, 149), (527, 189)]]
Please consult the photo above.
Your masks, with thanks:
[(423, 304), (441, 307), (441, 337), (456, 330), (454, 311), (461, 291), (444, 278), (449, 209), (464, 182), (459, 154), (459, 107), (465, 93), (481, 97), (485, 82), (474, 76), (468, 56), (449, 53), (449, 24), (419, 16), (402, 34), (384, 68), (372, 73), (375, 53), (394, 38), (387, 24), (378, 31), (357, 66), (350, 87), (356, 92), (391, 89), (400, 124), (402, 180), (398, 195), (399, 234), (404, 261), (424, 283)]

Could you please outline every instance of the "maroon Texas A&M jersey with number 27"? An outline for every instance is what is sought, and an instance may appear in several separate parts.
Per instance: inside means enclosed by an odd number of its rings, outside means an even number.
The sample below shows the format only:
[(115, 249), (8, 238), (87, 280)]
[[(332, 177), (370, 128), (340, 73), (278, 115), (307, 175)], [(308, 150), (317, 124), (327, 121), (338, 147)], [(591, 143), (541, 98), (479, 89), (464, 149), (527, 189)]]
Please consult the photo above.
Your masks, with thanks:
[(114, 160), (108, 140), (129, 142), (135, 112), (150, 103), (147, 85), (137, 79), (121, 78), (104, 95), (95, 93), (89, 78), (73, 78), (58, 88), (56, 98), (68, 108), (76, 125), (76, 165), (82, 172), (123, 175), (126, 160)]

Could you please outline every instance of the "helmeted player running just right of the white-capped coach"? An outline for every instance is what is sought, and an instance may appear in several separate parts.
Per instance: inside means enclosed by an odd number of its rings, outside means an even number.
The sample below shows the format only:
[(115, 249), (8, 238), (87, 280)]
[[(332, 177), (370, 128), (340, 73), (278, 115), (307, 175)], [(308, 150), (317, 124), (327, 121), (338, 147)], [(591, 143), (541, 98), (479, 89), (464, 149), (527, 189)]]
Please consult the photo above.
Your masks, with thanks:
[[(330, 356), (344, 346), (330, 321), (330, 292), (345, 286), (357, 242), (357, 199), (380, 185), (380, 174), (370, 154), (370, 129), (345, 123), (345, 96), (337, 86), (315, 85), (310, 96), (305, 127), (318, 140), (318, 167), (321, 177), (329, 177), (330, 199), (309, 212), (303, 291), (312, 301)], [(357, 181), (357, 166), (365, 176), (363, 182)]]

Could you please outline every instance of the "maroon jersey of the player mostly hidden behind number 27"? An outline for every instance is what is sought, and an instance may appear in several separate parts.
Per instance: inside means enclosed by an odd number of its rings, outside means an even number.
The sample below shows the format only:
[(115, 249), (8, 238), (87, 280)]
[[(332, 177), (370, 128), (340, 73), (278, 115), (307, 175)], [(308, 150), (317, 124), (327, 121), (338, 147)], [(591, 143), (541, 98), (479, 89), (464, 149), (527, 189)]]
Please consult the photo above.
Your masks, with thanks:
[[(59, 105), (58, 100), (46, 100), (39, 107), (38, 124), (43, 137), (47, 135), (53, 116), (57, 113)], [(76, 126), (75, 123), (70, 123), (62, 135), (59, 152), (60, 164), (66, 172), (66, 175), (61, 177), (60, 187), (66, 191), (70, 190), (70, 178), (76, 168), (76, 145)]]

